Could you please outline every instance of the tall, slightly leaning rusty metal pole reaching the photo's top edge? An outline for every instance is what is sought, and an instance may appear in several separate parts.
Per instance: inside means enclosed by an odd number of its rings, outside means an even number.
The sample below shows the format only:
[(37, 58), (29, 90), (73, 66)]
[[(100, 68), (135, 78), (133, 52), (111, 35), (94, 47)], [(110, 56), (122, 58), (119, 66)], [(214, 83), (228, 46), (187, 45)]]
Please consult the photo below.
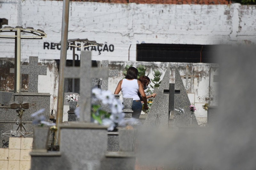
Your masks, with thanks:
[(60, 124), (62, 124), (63, 117), (63, 103), (64, 103), (64, 78), (63, 69), (66, 66), (67, 60), (67, 42), (68, 42), (68, 17), (69, 17), (69, 0), (63, 0), (62, 13), (62, 28), (61, 28), (61, 49), (60, 49), (60, 72), (59, 72), (59, 87), (57, 100), (57, 117), (56, 117), (56, 144), (59, 144), (60, 138)]

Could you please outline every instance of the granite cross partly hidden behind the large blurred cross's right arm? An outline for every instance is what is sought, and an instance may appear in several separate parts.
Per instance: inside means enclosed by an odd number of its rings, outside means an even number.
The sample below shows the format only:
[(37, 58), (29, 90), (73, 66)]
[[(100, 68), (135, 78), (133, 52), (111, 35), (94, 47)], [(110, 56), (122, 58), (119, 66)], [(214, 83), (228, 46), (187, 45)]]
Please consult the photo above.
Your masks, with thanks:
[[(108, 60), (102, 61), (102, 67), (108, 68)], [(118, 76), (118, 70), (108, 70), (108, 77), (112, 76)], [(92, 87), (94, 86), (102, 86), (102, 90), (108, 90), (108, 78), (102, 78), (102, 80), (99, 79), (92, 79)]]

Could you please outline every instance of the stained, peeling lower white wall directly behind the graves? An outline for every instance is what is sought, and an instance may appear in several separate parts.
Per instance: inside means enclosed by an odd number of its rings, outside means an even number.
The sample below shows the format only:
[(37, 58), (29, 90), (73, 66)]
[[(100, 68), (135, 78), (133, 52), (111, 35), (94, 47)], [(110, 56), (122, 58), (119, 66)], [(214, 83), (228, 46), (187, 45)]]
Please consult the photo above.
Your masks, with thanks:
[[(9, 67), (14, 67), (14, 59), (5, 59), (0, 58), (0, 68), (4, 70), (10, 70)], [(24, 60), (21, 64), (27, 64), (28, 60)], [(59, 81), (59, 72), (58, 72), (58, 60), (39, 60), (39, 65), (47, 66), (47, 75), (38, 76), (38, 92), (50, 93), (51, 101), (50, 108), (57, 109), (57, 97), (58, 97), (58, 81)], [(102, 63), (97, 61), (98, 66), (101, 66)], [(123, 70), (125, 70), (126, 65), (132, 65), (138, 67), (139, 64), (144, 65), (146, 70), (146, 75), (149, 78), (154, 79), (154, 70), (159, 70), (162, 75), (161, 79), (164, 76), (164, 73), (169, 65), (169, 63), (161, 62), (135, 62), (135, 61), (109, 61), (110, 70), (118, 70), (118, 76), (108, 78), (108, 89), (114, 93), (116, 85), (119, 80), (124, 78)], [(12, 67), (13, 65), (13, 67)], [(214, 76), (218, 75), (218, 64), (209, 64), (209, 63), (170, 63), (170, 83), (175, 83), (175, 67), (178, 67), (181, 76), (193, 75), (195, 78), (189, 78), (186, 82), (186, 78), (182, 78), (184, 86), (188, 86), (188, 97), (192, 104), (195, 103), (197, 108), (196, 115), (198, 118), (203, 121), (207, 118), (207, 111), (202, 108), (202, 105), (206, 103), (203, 99), (209, 97), (209, 86), (212, 87), (212, 95), (217, 94), (217, 85), (218, 83), (213, 80)], [(186, 73), (188, 66), (188, 73)], [(7, 68), (8, 67), (8, 68)], [(6, 71), (0, 72), (1, 77), (1, 88), (7, 90), (13, 89), (13, 74), (7, 73)], [(28, 87), (28, 80), (25, 79), (22, 81), (23, 87)], [(154, 85), (154, 83), (151, 83)], [(28, 87), (29, 88), (29, 87)], [(121, 93), (120, 93), (121, 94)], [(199, 98), (202, 99), (199, 99)], [(121, 96), (122, 99), (122, 96)], [(212, 105), (217, 105), (217, 103), (212, 103)], [(185, 106), (184, 106), (185, 107)], [(187, 107), (187, 106), (186, 106)], [(55, 114), (55, 111), (54, 111)], [(67, 113), (66, 113), (67, 114)]]

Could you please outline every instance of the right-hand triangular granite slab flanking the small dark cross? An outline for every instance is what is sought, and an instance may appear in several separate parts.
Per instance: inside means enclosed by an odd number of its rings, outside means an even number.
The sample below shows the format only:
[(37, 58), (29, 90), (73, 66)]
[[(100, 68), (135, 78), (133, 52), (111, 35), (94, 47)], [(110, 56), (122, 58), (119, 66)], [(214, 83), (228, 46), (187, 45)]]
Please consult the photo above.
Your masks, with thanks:
[[(178, 68), (175, 68), (175, 87), (174, 91), (170, 90), (170, 93), (174, 93), (174, 109), (183, 108), (184, 114), (177, 115), (177, 118), (175, 118), (175, 124), (176, 125), (188, 125), (190, 124), (190, 115), (191, 111), (189, 110), (189, 106), (191, 105), (188, 94), (186, 92), (185, 86), (181, 80), (180, 72)], [(173, 110), (174, 110), (173, 109)], [(175, 111), (177, 112), (177, 111)], [(175, 113), (174, 112), (174, 113)], [(198, 125), (196, 121), (195, 114), (192, 115), (192, 124)]]

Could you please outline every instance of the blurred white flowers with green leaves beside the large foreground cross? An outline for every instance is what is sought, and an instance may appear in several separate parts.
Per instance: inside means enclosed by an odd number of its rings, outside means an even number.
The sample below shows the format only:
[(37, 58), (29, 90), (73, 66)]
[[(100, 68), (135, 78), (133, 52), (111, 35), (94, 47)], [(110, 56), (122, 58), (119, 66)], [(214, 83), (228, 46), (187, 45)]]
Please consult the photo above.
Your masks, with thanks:
[[(108, 105), (111, 113), (103, 110), (100, 105), (94, 104), (95, 101), (101, 100), (103, 105)], [(104, 91), (99, 88), (92, 89), (92, 110), (91, 116), (95, 123), (99, 123), (108, 126), (108, 130), (114, 130), (115, 126), (130, 127), (138, 125), (140, 122), (135, 118), (124, 119), (123, 105), (119, 99), (115, 98), (115, 95), (111, 91)], [(75, 114), (77, 118), (80, 116), (79, 107), (76, 108)], [(129, 126), (128, 126), (129, 125)]]

